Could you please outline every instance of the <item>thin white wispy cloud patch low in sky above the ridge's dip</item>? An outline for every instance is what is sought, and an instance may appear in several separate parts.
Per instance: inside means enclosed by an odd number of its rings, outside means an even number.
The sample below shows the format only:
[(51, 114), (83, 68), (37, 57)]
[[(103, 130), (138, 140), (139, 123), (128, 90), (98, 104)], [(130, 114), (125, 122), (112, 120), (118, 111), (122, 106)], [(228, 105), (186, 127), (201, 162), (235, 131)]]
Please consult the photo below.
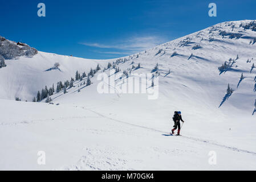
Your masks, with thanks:
[[(111, 51), (95, 51), (98, 53), (108, 53), (108, 54), (133, 54), (136, 52), (144, 51), (149, 48), (155, 47), (160, 43), (164, 43), (168, 40), (161, 36), (133, 36), (125, 40), (115, 41), (109, 44), (101, 43), (87, 43), (83, 42), (84, 46), (111, 49)], [(118, 51), (115, 51), (118, 50)]]

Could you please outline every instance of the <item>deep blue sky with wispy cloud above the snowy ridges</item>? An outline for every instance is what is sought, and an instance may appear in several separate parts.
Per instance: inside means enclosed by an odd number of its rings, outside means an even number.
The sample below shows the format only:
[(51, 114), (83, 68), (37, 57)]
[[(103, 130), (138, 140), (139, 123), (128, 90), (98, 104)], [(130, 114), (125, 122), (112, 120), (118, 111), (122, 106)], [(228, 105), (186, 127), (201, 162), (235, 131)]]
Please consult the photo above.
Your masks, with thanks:
[[(38, 3), (46, 17), (37, 15)], [(217, 17), (208, 16), (216, 3)], [(131, 55), (213, 24), (256, 19), (255, 0), (0, 1), (0, 35), (39, 51), (89, 59)]]

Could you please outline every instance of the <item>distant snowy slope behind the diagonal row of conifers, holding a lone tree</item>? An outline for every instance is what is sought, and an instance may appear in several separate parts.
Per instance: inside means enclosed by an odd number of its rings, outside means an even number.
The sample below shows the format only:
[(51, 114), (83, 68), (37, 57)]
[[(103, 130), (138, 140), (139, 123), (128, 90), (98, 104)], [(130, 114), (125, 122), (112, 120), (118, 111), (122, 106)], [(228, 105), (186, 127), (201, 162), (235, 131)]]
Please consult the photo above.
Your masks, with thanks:
[[(5, 60), (6, 67), (0, 70), (0, 98), (32, 101), (38, 90), (52, 86), (58, 81), (70, 80), (75, 72), (88, 72), (97, 64), (105, 61), (82, 59), (72, 56), (61, 56), (54, 53), (38, 52), (35, 56), (21, 56), (15, 60)], [(59, 63), (59, 69), (54, 64)]]

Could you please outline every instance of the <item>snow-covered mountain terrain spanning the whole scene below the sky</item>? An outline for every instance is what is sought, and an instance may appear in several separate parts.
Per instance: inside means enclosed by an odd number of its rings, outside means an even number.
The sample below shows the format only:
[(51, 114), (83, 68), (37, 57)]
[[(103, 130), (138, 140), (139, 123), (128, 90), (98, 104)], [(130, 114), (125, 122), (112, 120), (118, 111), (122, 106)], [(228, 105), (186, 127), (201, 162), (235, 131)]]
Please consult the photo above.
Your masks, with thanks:
[[(18, 169), (255, 169), (255, 27), (254, 20), (224, 22), (120, 59), (40, 51), (5, 59), (0, 169), (13, 169), (17, 151)], [(76, 71), (88, 75), (97, 64), (91, 85), (88, 77), (76, 80), (67, 93), (54, 92), (52, 104), (10, 101), (31, 101), (46, 85)], [(121, 74), (111, 82), (115, 70)], [(121, 91), (136, 83), (145, 93)], [(104, 86), (113, 93), (100, 93)], [(182, 137), (168, 135), (175, 110), (185, 121)], [(47, 164), (38, 166), (41, 150)]]

